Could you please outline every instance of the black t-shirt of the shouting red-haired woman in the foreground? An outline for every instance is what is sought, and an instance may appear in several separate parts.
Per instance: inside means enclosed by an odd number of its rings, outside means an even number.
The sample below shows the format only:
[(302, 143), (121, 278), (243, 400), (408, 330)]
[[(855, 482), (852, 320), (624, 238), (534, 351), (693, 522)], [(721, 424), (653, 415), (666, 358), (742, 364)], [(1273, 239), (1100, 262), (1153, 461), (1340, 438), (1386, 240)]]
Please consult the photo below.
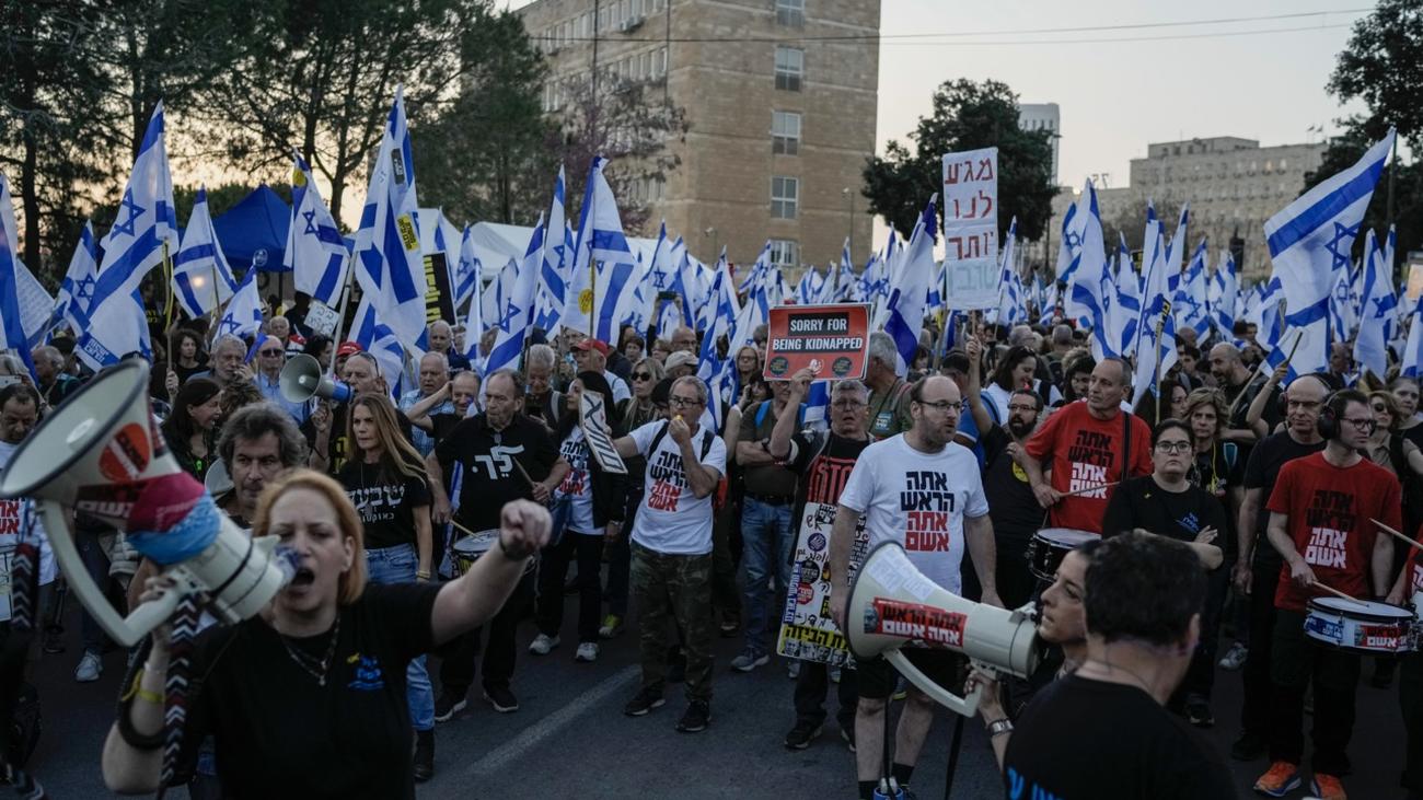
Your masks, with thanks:
[(434, 646), (438, 591), (367, 584), (342, 606), (324, 686), (287, 646), (314, 663), (330, 633), (283, 639), (260, 616), (205, 631), (194, 652), (199, 683), (184, 763), (211, 735), (223, 797), (414, 797), (406, 666)]

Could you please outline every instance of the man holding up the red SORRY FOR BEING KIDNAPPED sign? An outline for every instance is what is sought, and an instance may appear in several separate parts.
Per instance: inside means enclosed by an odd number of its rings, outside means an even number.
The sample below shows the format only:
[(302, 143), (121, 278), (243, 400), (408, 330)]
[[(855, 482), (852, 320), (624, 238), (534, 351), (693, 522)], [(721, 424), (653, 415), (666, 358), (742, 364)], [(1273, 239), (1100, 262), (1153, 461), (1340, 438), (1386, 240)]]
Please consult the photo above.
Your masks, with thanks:
[[(788, 384), (787, 407), (798, 406), (810, 393), (810, 383), (815, 374), (803, 369), (793, 374)], [(801, 430), (793, 414), (781, 414), (771, 430), (770, 454), (777, 463), (801, 477), (795, 493), (795, 514), (793, 521), (808, 521), (821, 512), (834, 514), (840, 495), (845, 490), (855, 460), (869, 447), (869, 389), (858, 380), (835, 381), (830, 390), (830, 431), (817, 428)], [(804, 522), (795, 524), (800, 528)], [(815, 537), (818, 534), (811, 534)], [(804, 537), (804, 534), (801, 534)], [(804, 542), (815, 549), (815, 542)], [(821, 549), (834, 547), (824, 542)], [(798, 559), (801, 555), (797, 554)], [(854, 558), (854, 557), (852, 557)], [(777, 596), (778, 604), (773, 606), (780, 619), (781, 605), (787, 595)], [(785, 735), (785, 747), (790, 750), (804, 750), (820, 736), (825, 722), (825, 693), (830, 689), (830, 669), (825, 663), (805, 660), (800, 662), (800, 675), (795, 678), (795, 725)], [(859, 703), (858, 680), (854, 669), (841, 669), (840, 673), (840, 736), (855, 749), (855, 706)]]

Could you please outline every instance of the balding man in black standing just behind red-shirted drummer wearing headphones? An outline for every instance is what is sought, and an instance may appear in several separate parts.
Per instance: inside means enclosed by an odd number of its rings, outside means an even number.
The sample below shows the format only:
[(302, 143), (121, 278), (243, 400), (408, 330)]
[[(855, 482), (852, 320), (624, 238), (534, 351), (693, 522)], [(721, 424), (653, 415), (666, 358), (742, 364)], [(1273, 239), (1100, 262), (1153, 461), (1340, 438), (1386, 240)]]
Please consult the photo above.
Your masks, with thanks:
[(1241, 736), (1231, 746), (1231, 756), (1244, 762), (1265, 753), (1269, 727), (1271, 638), (1282, 561), (1279, 552), (1265, 542), (1269, 524), (1265, 501), (1275, 490), (1275, 481), (1286, 463), (1325, 448), (1323, 437), (1319, 436), (1319, 409), (1328, 394), (1322, 379), (1312, 374), (1296, 377), (1284, 394), (1285, 430), (1261, 440), (1251, 448), (1245, 463), (1245, 497), (1237, 517), (1237, 561), (1231, 571), (1235, 589), (1249, 604), (1249, 651), (1241, 668)]

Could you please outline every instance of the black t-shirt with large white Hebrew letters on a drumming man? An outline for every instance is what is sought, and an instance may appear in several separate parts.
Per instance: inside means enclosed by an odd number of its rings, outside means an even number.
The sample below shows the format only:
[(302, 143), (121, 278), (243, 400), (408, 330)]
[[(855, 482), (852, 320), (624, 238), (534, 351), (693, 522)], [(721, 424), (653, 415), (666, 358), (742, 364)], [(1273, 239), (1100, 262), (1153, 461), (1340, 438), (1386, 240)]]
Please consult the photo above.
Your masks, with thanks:
[(558, 463), (558, 444), (544, 423), (524, 414), (515, 414), (501, 431), (490, 430), (488, 417), (478, 414), (461, 420), (440, 440), (435, 458), (451, 481), (451, 465), (461, 467), (455, 521), (471, 531), (488, 531), (499, 527), (505, 502), (534, 498), (529, 480), (548, 477)]

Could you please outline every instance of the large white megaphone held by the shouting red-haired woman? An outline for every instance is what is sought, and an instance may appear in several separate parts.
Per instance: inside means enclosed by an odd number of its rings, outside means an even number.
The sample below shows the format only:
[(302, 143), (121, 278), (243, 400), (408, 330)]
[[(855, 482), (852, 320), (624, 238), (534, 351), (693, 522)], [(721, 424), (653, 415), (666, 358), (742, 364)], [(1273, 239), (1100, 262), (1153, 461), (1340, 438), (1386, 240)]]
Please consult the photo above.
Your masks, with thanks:
[[(188, 594), (206, 595), (206, 609), (223, 622), (248, 619), (293, 572), (287, 558), (273, 555), (276, 537), (253, 540), (215, 511), (219, 530), (211, 542), (165, 571), (176, 579), (176, 588), (120, 616), (84, 568), (70, 510), (128, 530), (142, 490), (155, 480), (171, 483), (169, 475), (181, 471), (154, 424), (148, 364), (125, 360), (101, 372), (46, 417), (14, 451), (0, 478), (0, 497), (36, 500), (70, 588), (100, 626), (125, 646), (166, 621)], [(179, 524), (189, 518), (195, 517)], [(206, 532), (212, 534), (211, 528)]]

